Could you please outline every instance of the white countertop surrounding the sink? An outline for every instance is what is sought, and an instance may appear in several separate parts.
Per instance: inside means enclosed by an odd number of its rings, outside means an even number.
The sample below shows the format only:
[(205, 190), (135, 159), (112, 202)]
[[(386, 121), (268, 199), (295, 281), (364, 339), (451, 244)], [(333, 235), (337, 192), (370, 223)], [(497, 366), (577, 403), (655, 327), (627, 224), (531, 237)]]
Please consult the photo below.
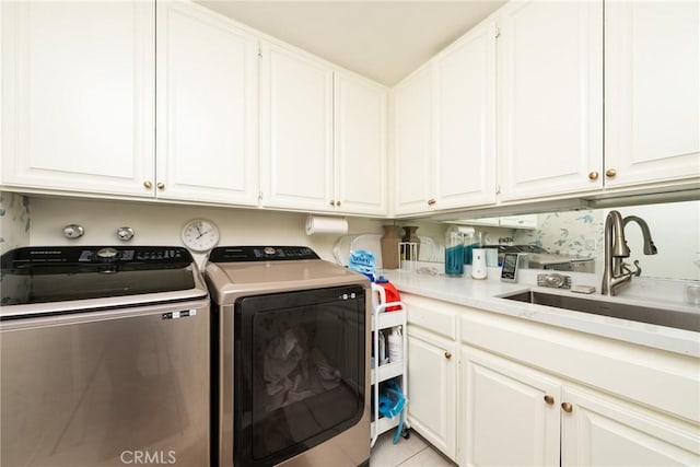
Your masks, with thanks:
[[(431, 265), (430, 267), (434, 267)], [(438, 271), (440, 271), (438, 266)], [(419, 268), (423, 270), (423, 268)], [(500, 295), (526, 291), (539, 290), (548, 293), (569, 294), (579, 297), (596, 300), (612, 300), (619, 303), (653, 306), (675, 310), (679, 312), (696, 313), (700, 319), (700, 307), (687, 305), (682, 302), (681, 281), (650, 280), (633, 278), (633, 287), (621, 292), (620, 296), (604, 297), (600, 295), (599, 277), (596, 275), (563, 273), (572, 277), (574, 285), (595, 285), (596, 292), (590, 295), (572, 293), (570, 291), (536, 285), (537, 273), (542, 271), (518, 271), (518, 283), (506, 283), (500, 280), (500, 270), (489, 268), (489, 278), (474, 280), (469, 276), (468, 267), (465, 267), (465, 276), (462, 278), (448, 278), (444, 275), (431, 275), (425, 272), (383, 270), (380, 272), (387, 278), (399, 292), (408, 292), (427, 299), (441, 300), (458, 305), (470, 306), (493, 313), (514, 316), (551, 326), (588, 332), (611, 339), (622, 340), (685, 355), (700, 358), (700, 332), (670, 327), (657, 326), (646, 323), (599, 316), (590, 313), (573, 312), (564, 308), (544, 306), (530, 303), (516, 302), (501, 299)], [(596, 282), (597, 281), (597, 282)], [(409, 310), (410, 314), (410, 310)]]

